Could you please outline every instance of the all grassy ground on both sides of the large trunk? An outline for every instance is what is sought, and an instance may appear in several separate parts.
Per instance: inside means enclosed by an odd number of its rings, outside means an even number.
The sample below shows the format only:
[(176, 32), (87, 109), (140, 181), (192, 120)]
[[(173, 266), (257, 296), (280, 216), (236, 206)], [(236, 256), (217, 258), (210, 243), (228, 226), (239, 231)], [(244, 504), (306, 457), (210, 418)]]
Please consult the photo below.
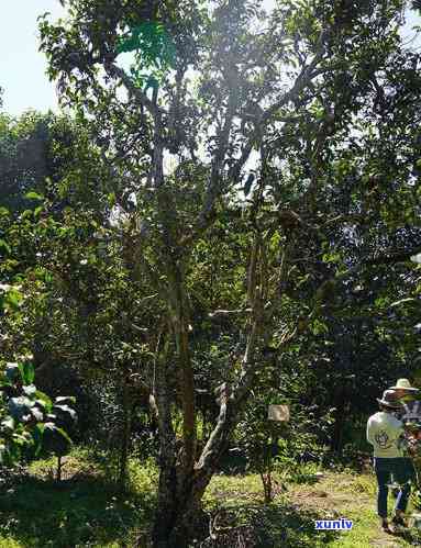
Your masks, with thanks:
[[(156, 471), (131, 462), (131, 485), (123, 494), (109, 471), (84, 452), (68, 458), (64, 480), (52, 477), (54, 461), (30, 467), (30, 474), (0, 485), (0, 547), (131, 547), (146, 538), (155, 503)], [(278, 478), (279, 479), (279, 478)], [(372, 474), (351, 471), (302, 477), (276, 485), (263, 504), (256, 474), (217, 476), (204, 497), (218, 544), (256, 548), (370, 548), (420, 546), (419, 537), (378, 530)], [(391, 501), (390, 501), (391, 502)], [(350, 532), (318, 532), (314, 519), (353, 519)], [(241, 544), (243, 543), (243, 544)], [(146, 540), (141, 546), (147, 546)]]

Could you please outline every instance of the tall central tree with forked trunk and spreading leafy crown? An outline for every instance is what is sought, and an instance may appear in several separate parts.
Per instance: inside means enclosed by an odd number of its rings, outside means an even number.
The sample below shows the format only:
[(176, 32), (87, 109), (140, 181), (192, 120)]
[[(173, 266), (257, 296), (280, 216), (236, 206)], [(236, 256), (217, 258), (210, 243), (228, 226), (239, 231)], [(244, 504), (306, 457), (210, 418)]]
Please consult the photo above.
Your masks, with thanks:
[[(202, 494), (265, 368), (264, 348), (281, 351), (307, 326), (314, 328), (326, 297), (362, 267), (358, 257), (336, 253), (339, 235), (363, 227), (354, 238), (363, 243), (390, 227), (380, 197), (391, 190), (394, 212), (402, 203), (409, 212), (419, 206), (418, 176), (395, 177), (402, 172), (402, 150), (408, 167), (418, 146), (403, 107), (394, 119), (399, 153), (391, 147), (385, 157), (379, 148), (399, 87), (402, 105), (419, 101), (419, 87), (394, 80), (389, 70), (409, 63), (398, 34), (405, 3), (279, 1), (270, 18), (258, 2), (244, 0), (65, 4), (66, 21), (42, 20), (42, 49), (63, 103), (96, 136), (106, 179), (113, 180), (114, 190), (103, 192), (126, 219), (133, 284), (144, 277), (157, 295), (157, 336), (149, 340), (160, 438), (154, 543), (187, 546), (199, 532)], [(124, 52), (130, 70), (120, 60)], [(417, 80), (419, 59), (411, 55), (408, 70)], [(362, 148), (365, 138), (373, 154)], [(248, 202), (239, 228), (250, 237), (250, 253), (239, 256), (239, 302), (208, 314), (236, 316), (245, 344), (241, 359), (226, 364), (231, 382), (219, 387), (219, 418), (198, 452), (195, 259), (242, 191)], [(341, 212), (331, 208), (337, 194)], [(367, 224), (372, 212), (376, 220)], [(395, 222), (413, 219), (396, 213)], [(372, 262), (413, 253), (377, 249)], [(295, 299), (299, 286), (304, 302)], [(203, 284), (203, 295), (207, 290)], [(181, 444), (174, 430), (177, 405)]]

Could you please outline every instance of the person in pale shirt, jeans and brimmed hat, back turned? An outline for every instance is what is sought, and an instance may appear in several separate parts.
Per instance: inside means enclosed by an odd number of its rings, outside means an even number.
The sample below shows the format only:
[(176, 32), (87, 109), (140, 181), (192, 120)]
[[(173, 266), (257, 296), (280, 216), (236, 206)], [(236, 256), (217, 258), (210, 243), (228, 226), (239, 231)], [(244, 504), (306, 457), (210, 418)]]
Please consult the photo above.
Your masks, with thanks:
[(377, 479), (377, 515), (380, 527), (386, 533), (394, 533), (387, 519), (387, 495), (391, 478), (399, 483), (399, 494), (395, 506), (392, 526), (405, 525), (403, 515), (411, 491), (413, 472), (403, 458), (403, 423), (394, 412), (400, 411), (401, 404), (394, 390), (385, 390), (383, 398), (376, 399), (379, 411), (367, 421), (367, 440), (374, 449), (374, 470)]

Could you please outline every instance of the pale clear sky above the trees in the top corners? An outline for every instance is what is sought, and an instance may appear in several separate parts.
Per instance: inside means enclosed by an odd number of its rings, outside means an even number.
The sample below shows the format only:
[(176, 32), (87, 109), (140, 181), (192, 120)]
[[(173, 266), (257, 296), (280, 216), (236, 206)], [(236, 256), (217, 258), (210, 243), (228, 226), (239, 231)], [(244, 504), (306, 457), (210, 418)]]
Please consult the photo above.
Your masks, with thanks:
[[(37, 43), (36, 18), (48, 11), (52, 19), (64, 14), (58, 0), (0, 0), (0, 87), (3, 111), (16, 115), (26, 109), (57, 109), (54, 83), (45, 75), (46, 63)], [(273, 0), (265, 0), (267, 7)], [(413, 35), (421, 18), (408, 18), (403, 35)], [(421, 44), (421, 41), (418, 41)]]

